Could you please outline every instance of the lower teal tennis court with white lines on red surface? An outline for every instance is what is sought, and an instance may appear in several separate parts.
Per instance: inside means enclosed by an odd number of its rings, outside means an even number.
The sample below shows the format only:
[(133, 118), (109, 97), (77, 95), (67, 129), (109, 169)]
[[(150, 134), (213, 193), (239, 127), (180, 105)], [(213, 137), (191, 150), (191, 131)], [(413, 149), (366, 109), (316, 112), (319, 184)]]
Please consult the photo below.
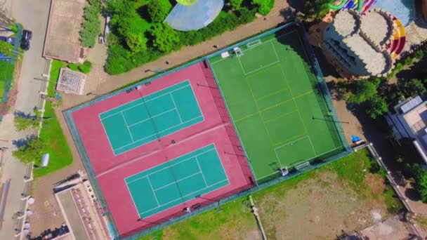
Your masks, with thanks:
[(129, 176), (125, 182), (140, 218), (229, 184), (213, 144)]

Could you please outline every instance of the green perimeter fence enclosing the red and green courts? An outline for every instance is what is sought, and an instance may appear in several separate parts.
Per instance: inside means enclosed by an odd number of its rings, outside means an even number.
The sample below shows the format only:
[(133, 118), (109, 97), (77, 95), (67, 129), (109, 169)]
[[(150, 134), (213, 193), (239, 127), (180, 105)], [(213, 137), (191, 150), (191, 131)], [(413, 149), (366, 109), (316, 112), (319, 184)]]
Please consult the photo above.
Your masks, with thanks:
[[(305, 166), (303, 168), (299, 168), (298, 171), (295, 168), (290, 169), (288, 175), (281, 176), (279, 173), (277, 173), (277, 175), (273, 175), (272, 178), (270, 178), (267, 182), (263, 182), (262, 184), (260, 182), (257, 182), (257, 185), (254, 185), (253, 187), (251, 187), (249, 189), (248, 189), (248, 186), (245, 186), (242, 189), (235, 189), (235, 191), (233, 191), (233, 192), (228, 192), (226, 194), (218, 196), (218, 197), (216, 197), (216, 199), (206, 199), (206, 201), (201, 203), (200, 208), (195, 209), (194, 211), (192, 211), (189, 214), (186, 214), (186, 213), (183, 213), (183, 211), (180, 211), (180, 212), (177, 212), (177, 213), (175, 213), (175, 214), (173, 214), (173, 215), (171, 215), (168, 218), (165, 218), (163, 220), (159, 220), (157, 222), (150, 222), (149, 228), (143, 227), (141, 229), (135, 229), (133, 232), (128, 232), (128, 233), (124, 234), (124, 236), (119, 236), (119, 232), (117, 230), (117, 227), (115, 227), (115, 225), (114, 225), (114, 221), (112, 220), (112, 216), (108, 211), (107, 203), (105, 201), (103, 193), (100, 190), (100, 186), (98, 184), (98, 181), (96, 180), (96, 175), (93, 172), (91, 162), (88, 158), (86, 150), (84, 149), (84, 145), (81, 142), (81, 138), (78, 134), (76, 125), (72, 119), (72, 112), (77, 111), (81, 108), (84, 108), (88, 105), (92, 105), (96, 102), (100, 102), (102, 100), (105, 100), (106, 98), (110, 98), (113, 95), (117, 95), (119, 93), (122, 93), (122, 92), (124, 92), (130, 88), (135, 88), (136, 86), (138, 86), (140, 84), (147, 84), (147, 82), (154, 81), (156, 79), (161, 78), (162, 76), (164, 76), (166, 74), (171, 74), (172, 72), (179, 71), (180, 69), (183, 69), (183, 68), (188, 67), (190, 65), (194, 65), (197, 62), (202, 62), (204, 60), (207, 61), (209, 58), (211, 58), (213, 56), (220, 55), (223, 51), (230, 51), (235, 46), (241, 46), (243, 44), (248, 44), (251, 41), (261, 39), (262, 37), (270, 35), (270, 34), (274, 34), (275, 32), (280, 31), (284, 28), (297, 29), (298, 32), (300, 33), (300, 35), (302, 36), (303, 47), (308, 52), (308, 58), (311, 61), (310, 65), (313, 67), (313, 72), (315, 73), (315, 79), (313, 79), (313, 83), (315, 82), (318, 85), (318, 89), (320, 91), (320, 94), (318, 94), (318, 97), (322, 98), (322, 101), (320, 101), (320, 102), (324, 102), (324, 105), (322, 106), (322, 108), (324, 109), (324, 112), (329, 113), (331, 120), (333, 120), (333, 121), (331, 121), (330, 127), (334, 128), (334, 130), (336, 131), (336, 133), (337, 133), (336, 141), (337, 142), (339, 141), (340, 146), (342, 146), (342, 147), (334, 150), (333, 152), (329, 152), (328, 154), (324, 154), (323, 156), (320, 156), (317, 159), (313, 159), (313, 161), (310, 161), (310, 164), (308, 164), (307, 166)], [(77, 149), (79, 150), (79, 154), (81, 156), (81, 159), (84, 163), (84, 166), (86, 167), (86, 171), (88, 172), (88, 178), (91, 180), (91, 182), (93, 184), (93, 189), (95, 190), (96, 195), (98, 196), (98, 201), (100, 203), (100, 206), (104, 209), (104, 214), (109, 221), (109, 223), (108, 223), (109, 231), (110, 231), (110, 234), (111, 234), (113, 239), (138, 239), (140, 236), (150, 234), (151, 232), (155, 232), (159, 229), (162, 229), (164, 227), (172, 225), (176, 222), (180, 222), (182, 220), (186, 220), (188, 218), (191, 218), (194, 215), (198, 215), (200, 213), (204, 213), (206, 211), (209, 211), (213, 208), (217, 208), (218, 206), (221, 206), (223, 204), (227, 204), (230, 201), (234, 201), (235, 199), (238, 199), (242, 196), (247, 196), (248, 194), (260, 191), (261, 189), (265, 189), (266, 187), (270, 187), (270, 186), (275, 185), (275, 184), (282, 182), (284, 180), (288, 180), (289, 178), (294, 178), (295, 176), (300, 175), (306, 171), (310, 171), (310, 170), (313, 170), (315, 168), (320, 168), (324, 164), (328, 164), (331, 161), (341, 159), (343, 156), (346, 156), (352, 152), (352, 149), (350, 148), (350, 146), (346, 142), (345, 138), (343, 137), (343, 132), (342, 132), (341, 126), (339, 126), (339, 120), (336, 117), (336, 113), (335, 113), (334, 107), (332, 105), (331, 95), (329, 94), (329, 90), (327, 88), (327, 85), (324, 82), (324, 78), (322, 76), (322, 72), (320, 71), (320, 67), (317, 63), (317, 60), (315, 59), (315, 55), (314, 55), (312, 49), (308, 45), (308, 40), (306, 39), (306, 37), (307, 37), (306, 32), (303, 29), (303, 27), (301, 25), (296, 24), (296, 22), (291, 22), (291, 23), (288, 23), (287, 25), (282, 25), (282, 26), (277, 27), (275, 29), (271, 29), (267, 32), (264, 32), (263, 34), (253, 36), (253, 37), (246, 39), (242, 42), (239, 42), (237, 44), (233, 44), (232, 46), (229, 46), (228, 48), (221, 49), (221, 51), (217, 51), (216, 53), (212, 53), (210, 55), (204, 56), (203, 58), (199, 58), (197, 60), (193, 60), (191, 62), (188, 62), (184, 65), (181, 65), (180, 67), (177, 67), (175, 69), (171, 69), (169, 72), (164, 72), (162, 74), (158, 74), (158, 75), (156, 75), (150, 79), (146, 79), (144, 81), (138, 81), (135, 84), (131, 84), (129, 86), (126, 86), (125, 88), (121, 88), (118, 91), (114, 91), (112, 93), (102, 95), (102, 96), (96, 98), (95, 100), (92, 100), (90, 102), (84, 102), (81, 105), (75, 106), (72, 109), (67, 109), (63, 112), (65, 119), (67, 121), (67, 125), (70, 128), (70, 132), (72, 133), (74, 142), (77, 146)], [(239, 141), (239, 142), (242, 142), (242, 141)]]

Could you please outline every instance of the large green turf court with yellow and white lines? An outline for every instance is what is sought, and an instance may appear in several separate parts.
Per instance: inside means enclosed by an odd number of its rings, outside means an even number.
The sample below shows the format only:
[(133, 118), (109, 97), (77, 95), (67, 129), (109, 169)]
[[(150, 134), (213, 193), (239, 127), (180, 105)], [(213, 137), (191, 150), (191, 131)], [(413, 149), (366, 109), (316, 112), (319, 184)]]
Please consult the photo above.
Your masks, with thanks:
[(264, 36), (209, 63), (257, 180), (343, 147), (298, 32)]

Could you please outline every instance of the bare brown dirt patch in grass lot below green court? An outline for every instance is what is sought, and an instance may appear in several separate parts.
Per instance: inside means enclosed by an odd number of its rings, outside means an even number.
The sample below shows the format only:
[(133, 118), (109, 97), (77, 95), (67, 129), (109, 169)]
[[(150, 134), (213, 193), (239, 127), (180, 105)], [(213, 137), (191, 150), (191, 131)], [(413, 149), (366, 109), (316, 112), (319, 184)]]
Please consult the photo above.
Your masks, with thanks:
[[(381, 187), (376, 186), (380, 192)], [(367, 201), (329, 171), (299, 182), (284, 196), (265, 194), (256, 206), (269, 239), (331, 239), (388, 217), (384, 204)]]

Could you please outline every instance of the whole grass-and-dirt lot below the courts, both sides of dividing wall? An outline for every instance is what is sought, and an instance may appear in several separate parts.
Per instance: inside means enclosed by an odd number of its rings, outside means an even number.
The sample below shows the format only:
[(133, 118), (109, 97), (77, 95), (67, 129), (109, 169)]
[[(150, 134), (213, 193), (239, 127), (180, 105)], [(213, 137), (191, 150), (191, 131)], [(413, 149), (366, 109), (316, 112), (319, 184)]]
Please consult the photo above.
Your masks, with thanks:
[[(268, 239), (333, 239), (402, 209), (367, 150), (254, 193)], [(141, 239), (261, 239), (238, 199)], [(301, 227), (304, 226), (304, 227)]]

